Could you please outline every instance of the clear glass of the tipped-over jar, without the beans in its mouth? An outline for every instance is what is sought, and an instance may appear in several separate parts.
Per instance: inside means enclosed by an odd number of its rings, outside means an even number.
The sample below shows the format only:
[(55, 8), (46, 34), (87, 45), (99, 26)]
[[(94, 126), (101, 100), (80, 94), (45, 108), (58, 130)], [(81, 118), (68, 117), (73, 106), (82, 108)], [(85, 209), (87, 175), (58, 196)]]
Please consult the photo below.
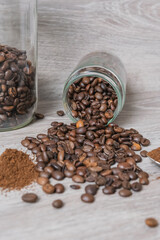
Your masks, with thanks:
[(79, 62), (67, 79), (63, 90), (63, 106), (66, 114), (73, 122), (76, 122), (79, 118), (72, 115), (72, 108), (68, 97), (69, 88), (84, 77), (103, 79), (115, 91), (117, 106), (113, 117), (107, 123), (104, 122), (104, 124), (111, 123), (121, 112), (125, 102), (127, 78), (122, 62), (118, 57), (105, 52), (90, 53)]

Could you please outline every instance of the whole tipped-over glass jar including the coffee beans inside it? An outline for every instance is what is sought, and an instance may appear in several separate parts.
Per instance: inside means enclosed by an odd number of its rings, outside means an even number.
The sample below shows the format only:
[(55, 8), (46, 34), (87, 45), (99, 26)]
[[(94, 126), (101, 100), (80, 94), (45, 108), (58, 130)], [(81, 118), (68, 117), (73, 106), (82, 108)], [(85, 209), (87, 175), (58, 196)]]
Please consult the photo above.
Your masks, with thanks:
[[(111, 123), (121, 112), (126, 95), (126, 71), (120, 59), (105, 52), (86, 55), (70, 74), (63, 105), (73, 122)], [(94, 120), (94, 121), (93, 121)]]

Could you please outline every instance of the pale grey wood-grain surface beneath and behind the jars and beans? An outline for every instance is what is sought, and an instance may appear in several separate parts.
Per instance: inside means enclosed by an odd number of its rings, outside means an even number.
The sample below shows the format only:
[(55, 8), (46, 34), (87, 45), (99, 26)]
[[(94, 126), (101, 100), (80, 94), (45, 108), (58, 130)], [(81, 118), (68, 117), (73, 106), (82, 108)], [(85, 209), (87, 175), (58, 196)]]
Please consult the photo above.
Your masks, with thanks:
[[(85, 54), (107, 51), (119, 56), (128, 75), (127, 99), (116, 123), (136, 128), (151, 140), (147, 150), (160, 146), (160, 1), (158, 0), (39, 0), (39, 104), (45, 119), (12, 132), (0, 133), (1, 152), (22, 149), (25, 136), (46, 132), (62, 108), (66, 78)], [(69, 119), (63, 117), (65, 122)], [(64, 180), (62, 196), (45, 195), (37, 185), (29, 188), (40, 200), (21, 201), (26, 192), (0, 195), (1, 240), (159, 240), (160, 226), (148, 228), (144, 220), (160, 223), (160, 168), (149, 159), (139, 164), (150, 174), (150, 185), (124, 199), (99, 191), (94, 204), (81, 202), (84, 191), (71, 190)], [(64, 208), (51, 203), (61, 198)]]

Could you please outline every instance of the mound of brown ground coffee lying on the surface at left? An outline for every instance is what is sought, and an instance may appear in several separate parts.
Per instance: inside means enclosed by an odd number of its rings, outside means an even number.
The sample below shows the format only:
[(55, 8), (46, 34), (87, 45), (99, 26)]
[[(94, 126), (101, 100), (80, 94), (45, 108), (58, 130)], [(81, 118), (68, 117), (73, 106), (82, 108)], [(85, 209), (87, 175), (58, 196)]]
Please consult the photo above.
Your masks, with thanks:
[(6, 149), (0, 156), (0, 188), (20, 190), (37, 179), (35, 165), (29, 155), (16, 149)]

